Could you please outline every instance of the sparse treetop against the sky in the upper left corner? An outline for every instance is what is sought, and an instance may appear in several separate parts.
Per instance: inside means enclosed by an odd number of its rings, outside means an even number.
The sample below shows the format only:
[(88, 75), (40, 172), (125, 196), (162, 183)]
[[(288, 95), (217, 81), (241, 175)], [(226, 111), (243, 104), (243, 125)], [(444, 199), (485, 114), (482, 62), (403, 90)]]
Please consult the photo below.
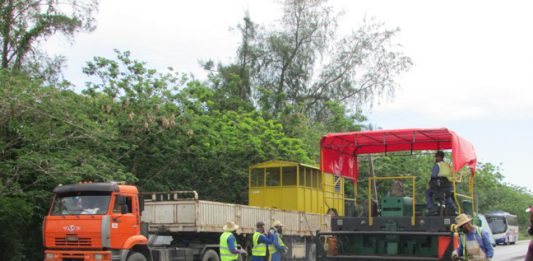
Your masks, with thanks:
[(95, 28), (97, 0), (0, 0), (1, 68), (59, 73), (62, 58), (49, 58), (39, 43), (56, 33), (72, 37)]

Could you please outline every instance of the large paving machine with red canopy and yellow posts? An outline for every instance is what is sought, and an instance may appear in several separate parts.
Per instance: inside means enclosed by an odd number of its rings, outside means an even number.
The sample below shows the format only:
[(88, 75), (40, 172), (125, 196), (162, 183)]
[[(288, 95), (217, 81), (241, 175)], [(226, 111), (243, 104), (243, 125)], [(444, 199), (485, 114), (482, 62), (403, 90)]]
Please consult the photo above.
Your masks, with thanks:
[[(359, 176), (361, 159), (383, 154), (407, 157), (415, 155), (414, 151), (433, 154), (436, 150), (452, 151), (453, 172), (453, 178), (446, 181), (452, 183), (453, 193), (439, 186), (440, 182), (435, 182), (436, 215), (428, 214), (426, 204), (418, 203), (422, 200), (416, 198), (416, 176), (372, 174), (372, 160), (368, 160), (371, 174)], [(455, 213), (446, 204), (446, 197), (453, 197), (459, 212), (475, 214), (473, 185), (476, 154), (470, 142), (448, 129), (333, 133), (322, 138), (320, 155), (323, 171), (353, 178), (355, 184), (362, 183), (367, 187), (368, 194), (356, 195), (356, 198), (364, 199), (358, 203), (363, 203), (362, 215), (333, 217), (332, 231), (318, 233), (318, 260), (452, 260), (451, 253), (458, 237), (453, 226)], [(458, 171), (467, 166), (470, 168), (467, 177), (459, 179)], [(428, 169), (427, 175), (430, 173)], [(379, 187), (376, 183), (392, 183), (391, 180), (401, 180), (410, 189), (380, 194), (374, 188)], [(458, 186), (459, 182), (463, 184)], [(458, 187), (468, 191), (458, 191)], [(355, 191), (357, 193), (358, 190)]]

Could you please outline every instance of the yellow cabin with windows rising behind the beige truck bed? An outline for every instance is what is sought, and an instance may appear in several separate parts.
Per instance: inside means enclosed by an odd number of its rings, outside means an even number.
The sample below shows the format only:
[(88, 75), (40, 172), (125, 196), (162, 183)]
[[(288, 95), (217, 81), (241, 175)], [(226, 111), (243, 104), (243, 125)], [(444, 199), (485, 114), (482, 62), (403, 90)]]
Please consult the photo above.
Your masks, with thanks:
[(344, 216), (344, 179), (297, 162), (267, 161), (250, 166), (250, 206)]

